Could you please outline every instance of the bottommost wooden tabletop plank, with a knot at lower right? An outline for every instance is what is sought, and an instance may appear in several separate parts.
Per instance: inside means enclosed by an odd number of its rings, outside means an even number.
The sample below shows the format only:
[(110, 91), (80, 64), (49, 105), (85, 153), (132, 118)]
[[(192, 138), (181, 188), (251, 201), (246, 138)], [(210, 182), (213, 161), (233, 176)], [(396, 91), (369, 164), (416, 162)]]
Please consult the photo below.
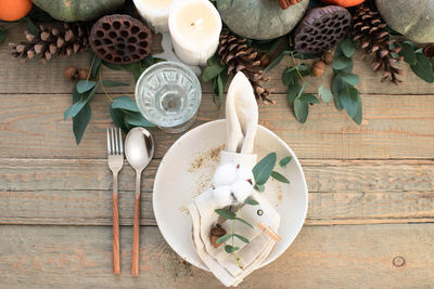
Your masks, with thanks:
[[(120, 229), (120, 277), (112, 274), (108, 226), (0, 229), (0, 248), (8, 248), (0, 250), (0, 283), (8, 288), (221, 288), (210, 273), (183, 262), (157, 227), (141, 229), (140, 276), (135, 278), (129, 227)], [(240, 288), (430, 288), (433, 239), (434, 224), (307, 226), (281, 258)]]

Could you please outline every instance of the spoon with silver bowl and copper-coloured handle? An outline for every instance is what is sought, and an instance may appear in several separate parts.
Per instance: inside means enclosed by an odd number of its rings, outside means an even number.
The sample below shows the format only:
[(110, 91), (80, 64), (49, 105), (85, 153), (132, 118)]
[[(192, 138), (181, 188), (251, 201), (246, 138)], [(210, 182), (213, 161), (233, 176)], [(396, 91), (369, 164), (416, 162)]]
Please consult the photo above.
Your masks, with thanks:
[(154, 141), (143, 128), (133, 128), (125, 140), (125, 155), (136, 170), (135, 224), (132, 228), (131, 275), (139, 275), (139, 234), (140, 234), (140, 180), (142, 171), (154, 155)]

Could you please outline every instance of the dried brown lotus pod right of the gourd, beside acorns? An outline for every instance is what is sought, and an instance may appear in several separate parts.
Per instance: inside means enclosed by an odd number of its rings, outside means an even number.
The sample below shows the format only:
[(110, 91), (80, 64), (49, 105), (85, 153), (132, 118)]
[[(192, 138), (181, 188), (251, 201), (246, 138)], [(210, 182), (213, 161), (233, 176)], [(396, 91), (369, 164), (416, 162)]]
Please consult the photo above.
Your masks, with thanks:
[(346, 36), (352, 15), (342, 6), (309, 10), (294, 32), (295, 50), (314, 54), (331, 49)]

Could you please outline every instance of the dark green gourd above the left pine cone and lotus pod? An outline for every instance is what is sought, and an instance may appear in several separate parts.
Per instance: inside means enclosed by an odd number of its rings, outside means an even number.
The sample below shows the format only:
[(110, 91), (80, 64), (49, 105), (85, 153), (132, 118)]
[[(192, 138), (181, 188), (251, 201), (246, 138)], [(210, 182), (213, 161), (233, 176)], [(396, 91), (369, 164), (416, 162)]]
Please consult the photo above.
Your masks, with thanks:
[(34, 4), (63, 22), (92, 21), (124, 5), (125, 0), (33, 0)]

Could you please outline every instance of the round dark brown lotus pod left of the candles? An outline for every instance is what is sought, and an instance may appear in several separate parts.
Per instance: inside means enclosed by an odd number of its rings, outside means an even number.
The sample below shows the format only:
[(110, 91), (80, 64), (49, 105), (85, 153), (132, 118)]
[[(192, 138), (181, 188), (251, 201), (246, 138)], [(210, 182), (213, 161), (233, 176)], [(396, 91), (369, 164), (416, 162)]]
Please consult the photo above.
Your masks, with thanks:
[(94, 53), (114, 64), (143, 60), (151, 53), (152, 34), (140, 21), (128, 15), (101, 17), (90, 31), (89, 42)]

